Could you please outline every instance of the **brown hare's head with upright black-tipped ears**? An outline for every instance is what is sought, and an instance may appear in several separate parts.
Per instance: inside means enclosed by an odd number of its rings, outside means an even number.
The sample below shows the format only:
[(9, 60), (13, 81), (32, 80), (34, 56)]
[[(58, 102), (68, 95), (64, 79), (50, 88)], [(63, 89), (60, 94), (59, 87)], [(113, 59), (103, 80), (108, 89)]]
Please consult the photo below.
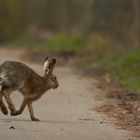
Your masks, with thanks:
[(54, 68), (56, 64), (56, 59), (54, 58), (46, 58), (44, 63), (44, 77), (48, 79), (48, 83), (50, 88), (57, 88), (59, 86), (57, 77), (53, 74)]

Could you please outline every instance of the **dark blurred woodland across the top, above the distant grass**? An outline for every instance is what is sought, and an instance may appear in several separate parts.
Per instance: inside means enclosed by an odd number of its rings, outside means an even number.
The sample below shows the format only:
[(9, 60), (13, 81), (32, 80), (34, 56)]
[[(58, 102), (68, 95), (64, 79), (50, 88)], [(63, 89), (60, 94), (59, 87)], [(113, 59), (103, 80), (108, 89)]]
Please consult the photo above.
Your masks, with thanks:
[(0, 40), (35, 25), (68, 33), (98, 31), (113, 41), (129, 39), (138, 46), (139, 9), (139, 0), (1, 0)]

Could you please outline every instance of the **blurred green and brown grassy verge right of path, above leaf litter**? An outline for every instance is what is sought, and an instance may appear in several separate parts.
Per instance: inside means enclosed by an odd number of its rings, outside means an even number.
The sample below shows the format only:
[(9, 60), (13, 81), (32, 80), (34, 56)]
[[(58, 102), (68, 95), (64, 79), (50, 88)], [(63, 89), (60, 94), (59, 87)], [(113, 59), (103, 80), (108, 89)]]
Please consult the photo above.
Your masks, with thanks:
[[(93, 36), (77, 59), (78, 67), (87, 73), (108, 77), (125, 86), (140, 91), (140, 48), (113, 47), (100, 36)], [(82, 63), (81, 63), (82, 62)]]

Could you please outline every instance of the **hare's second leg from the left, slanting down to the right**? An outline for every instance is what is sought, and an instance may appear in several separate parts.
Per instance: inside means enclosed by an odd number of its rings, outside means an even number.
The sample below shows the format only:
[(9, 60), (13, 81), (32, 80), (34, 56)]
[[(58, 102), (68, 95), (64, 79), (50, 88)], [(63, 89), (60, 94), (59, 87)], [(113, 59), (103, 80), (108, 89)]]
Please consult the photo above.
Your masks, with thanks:
[(12, 114), (14, 114), (16, 112), (16, 109), (15, 109), (14, 104), (12, 103), (12, 100), (10, 98), (10, 94), (11, 94), (11, 92), (5, 92), (4, 97), (5, 97), (5, 100), (6, 100), (7, 104), (8, 104), (8, 108), (11, 111), (11, 115), (12, 115)]

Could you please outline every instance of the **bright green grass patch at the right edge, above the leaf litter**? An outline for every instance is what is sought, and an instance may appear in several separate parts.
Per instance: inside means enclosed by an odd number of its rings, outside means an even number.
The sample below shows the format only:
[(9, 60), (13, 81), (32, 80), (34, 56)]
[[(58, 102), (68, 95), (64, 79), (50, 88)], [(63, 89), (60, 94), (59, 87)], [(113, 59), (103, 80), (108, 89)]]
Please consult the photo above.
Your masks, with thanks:
[(113, 76), (117, 77), (122, 85), (133, 89), (140, 89), (140, 49), (130, 49), (127, 54), (116, 60), (112, 65)]

